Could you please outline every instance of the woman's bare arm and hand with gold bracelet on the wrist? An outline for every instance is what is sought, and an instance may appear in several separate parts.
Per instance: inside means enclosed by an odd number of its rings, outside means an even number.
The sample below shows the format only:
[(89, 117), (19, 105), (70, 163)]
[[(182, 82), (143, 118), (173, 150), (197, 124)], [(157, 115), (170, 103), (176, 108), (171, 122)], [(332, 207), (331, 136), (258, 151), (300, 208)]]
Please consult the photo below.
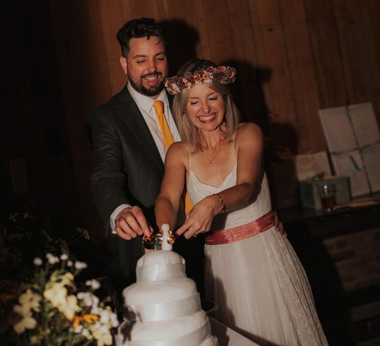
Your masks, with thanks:
[(212, 219), (222, 208), (232, 211), (247, 204), (258, 188), (262, 174), (263, 134), (253, 123), (242, 124), (235, 141), (238, 151), (237, 183), (218, 195), (212, 195), (198, 202), (187, 216), (186, 222), (177, 234), (190, 238), (198, 233), (210, 230)]

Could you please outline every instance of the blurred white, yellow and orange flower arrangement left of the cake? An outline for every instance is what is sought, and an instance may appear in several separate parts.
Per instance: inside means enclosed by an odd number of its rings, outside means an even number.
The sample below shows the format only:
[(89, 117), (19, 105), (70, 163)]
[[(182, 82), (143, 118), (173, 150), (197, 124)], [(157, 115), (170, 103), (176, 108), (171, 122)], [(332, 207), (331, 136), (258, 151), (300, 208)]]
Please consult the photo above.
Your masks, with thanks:
[(33, 260), (34, 278), (23, 282), (17, 294), (3, 294), (0, 302), (8, 308), (2, 330), (6, 345), (112, 345), (117, 316), (95, 295), (100, 283), (87, 280), (78, 290), (74, 279), (87, 267), (47, 253), (46, 261)]

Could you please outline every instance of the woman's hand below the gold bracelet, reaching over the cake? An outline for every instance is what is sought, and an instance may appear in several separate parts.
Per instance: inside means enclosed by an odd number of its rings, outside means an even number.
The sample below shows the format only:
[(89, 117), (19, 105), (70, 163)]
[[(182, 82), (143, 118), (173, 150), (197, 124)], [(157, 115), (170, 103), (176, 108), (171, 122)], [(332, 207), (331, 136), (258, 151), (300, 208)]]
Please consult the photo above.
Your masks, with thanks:
[(186, 239), (190, 239), (199, 233), (208, 232), (211, 228), (212, 219), (219, 212), (218, 203), (213, 196), (208, 196), (199, 201), (186, 216), (185, 223), (177, 229), (177, 236), (183, 234)]

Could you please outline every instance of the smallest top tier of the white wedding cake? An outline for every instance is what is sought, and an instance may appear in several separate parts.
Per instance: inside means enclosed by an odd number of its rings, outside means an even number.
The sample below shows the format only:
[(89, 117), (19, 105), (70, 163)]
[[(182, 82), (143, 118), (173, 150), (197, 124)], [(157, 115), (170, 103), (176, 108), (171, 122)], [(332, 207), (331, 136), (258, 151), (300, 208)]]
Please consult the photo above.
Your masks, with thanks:
[(150, 251), (137, 261), (137, 282), (186, 277), (185, 259), (173, 251)]

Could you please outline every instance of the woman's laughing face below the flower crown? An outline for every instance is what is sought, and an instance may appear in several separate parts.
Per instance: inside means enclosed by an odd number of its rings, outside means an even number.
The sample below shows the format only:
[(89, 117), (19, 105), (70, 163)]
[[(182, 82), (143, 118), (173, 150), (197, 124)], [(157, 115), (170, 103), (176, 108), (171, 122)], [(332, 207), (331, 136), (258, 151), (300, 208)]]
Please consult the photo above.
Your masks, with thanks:
[(200, 130), (213, 131), (223, 123), (225, 106), (222, 95), (206, 84), (192, 87), (186, 104), (186, 115)]

